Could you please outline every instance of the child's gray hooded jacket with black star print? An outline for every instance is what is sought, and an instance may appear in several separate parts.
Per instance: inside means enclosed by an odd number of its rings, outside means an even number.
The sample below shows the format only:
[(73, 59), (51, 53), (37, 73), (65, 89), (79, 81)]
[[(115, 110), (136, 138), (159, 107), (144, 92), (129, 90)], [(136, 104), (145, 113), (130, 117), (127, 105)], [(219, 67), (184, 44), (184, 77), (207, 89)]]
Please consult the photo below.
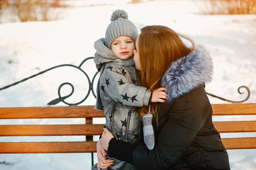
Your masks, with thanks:
[(95, 42), (94, 48), (94, 62), (100, 71), (95, 109), (104, 111), (106, 126), (116, 139), (137, 143), (141, 121), (135, 107), (148, 105), (151, 91), (137, 86), (133, 57), (117, 58), (103, 38)]

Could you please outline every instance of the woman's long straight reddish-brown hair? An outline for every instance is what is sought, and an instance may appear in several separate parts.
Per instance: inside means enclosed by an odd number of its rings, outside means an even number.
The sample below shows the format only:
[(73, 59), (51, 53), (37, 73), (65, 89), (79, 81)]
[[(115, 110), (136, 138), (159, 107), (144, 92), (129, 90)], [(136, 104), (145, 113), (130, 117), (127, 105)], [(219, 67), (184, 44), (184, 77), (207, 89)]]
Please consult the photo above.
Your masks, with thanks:
[[(180, 39), (192, 44), (192, 48)], [(137, 42), (141, 65), (141, 86), (153, 91), (160, 88), (161, 79), (171, 63), (187, 56), (195, 48), (195, 42), (189, 37), (178, 34), (166, 26), (146, 26), (141, 29)], [(151, 103), (151, 113), (157, 112), (157, 103)], [(148, 113), (148, 106), (140, 109), (141, 118)]]

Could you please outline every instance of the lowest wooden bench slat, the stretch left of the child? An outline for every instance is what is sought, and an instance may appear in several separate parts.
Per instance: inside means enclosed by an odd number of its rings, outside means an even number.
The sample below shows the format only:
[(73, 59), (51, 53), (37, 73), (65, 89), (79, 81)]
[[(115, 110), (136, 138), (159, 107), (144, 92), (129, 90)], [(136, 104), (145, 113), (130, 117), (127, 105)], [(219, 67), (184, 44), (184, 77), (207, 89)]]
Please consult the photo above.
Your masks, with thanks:
[(96, 143), (88, 142), (0, 142), (0, 153), (91, 153)]

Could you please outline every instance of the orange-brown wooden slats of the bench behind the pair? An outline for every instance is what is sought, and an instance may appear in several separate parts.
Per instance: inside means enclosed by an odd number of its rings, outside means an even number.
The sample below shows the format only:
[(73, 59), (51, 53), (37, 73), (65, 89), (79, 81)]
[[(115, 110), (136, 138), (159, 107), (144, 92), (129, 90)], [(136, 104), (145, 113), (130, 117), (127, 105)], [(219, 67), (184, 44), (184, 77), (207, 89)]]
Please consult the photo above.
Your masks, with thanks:
[[(94, 106), (0, 108), (0, 119), (85, 118), (85, 125), (0, 125), (0, 136), (86, 136), (85, 142), (0, 142), (0, 153), (95, 153), (104, 117)], [(212, 104), (213, 115), (256, 115), (256, 103)], [(214, 122), (219, 133), (256, 132), (256, 121)], [(256, 149), (256, 137), (223, 138), (226, 149)], [(93, 164), (93, 157), (92, 157)]]

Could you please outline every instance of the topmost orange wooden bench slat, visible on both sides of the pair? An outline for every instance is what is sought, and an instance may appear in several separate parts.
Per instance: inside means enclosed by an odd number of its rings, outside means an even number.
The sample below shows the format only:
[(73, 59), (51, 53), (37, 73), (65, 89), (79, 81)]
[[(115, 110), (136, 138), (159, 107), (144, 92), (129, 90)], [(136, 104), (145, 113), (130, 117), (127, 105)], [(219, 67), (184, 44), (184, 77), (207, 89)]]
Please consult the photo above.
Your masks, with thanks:
[[(42, 118), (94, 118), (105, 117), (103, 111), (94, 106), (0, 108), (0, 119), (42, 119)], [(256, 103), (212, 104), (214, 116), (253, 115)]]

